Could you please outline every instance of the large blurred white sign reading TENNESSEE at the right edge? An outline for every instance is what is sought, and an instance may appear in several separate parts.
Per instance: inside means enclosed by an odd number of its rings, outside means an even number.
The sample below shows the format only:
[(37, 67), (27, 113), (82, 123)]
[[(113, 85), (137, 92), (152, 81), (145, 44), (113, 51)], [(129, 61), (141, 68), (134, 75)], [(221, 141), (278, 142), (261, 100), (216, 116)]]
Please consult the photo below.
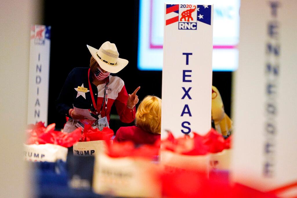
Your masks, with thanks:
[(259, 3), (241, 1), (233, 181), (261, 191), (295, 182), (278, 195), (297, 196), (297, 3)]

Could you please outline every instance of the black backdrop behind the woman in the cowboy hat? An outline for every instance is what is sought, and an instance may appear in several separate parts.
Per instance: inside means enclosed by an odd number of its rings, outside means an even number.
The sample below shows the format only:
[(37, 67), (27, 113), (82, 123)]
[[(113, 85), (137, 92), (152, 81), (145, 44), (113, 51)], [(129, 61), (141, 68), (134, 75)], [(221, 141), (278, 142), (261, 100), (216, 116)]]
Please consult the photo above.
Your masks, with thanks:
[[(63, 128), (65, 116), (57, 113), (55, 100), (73, 68), (89, 67), (91, 54), (86, 45), (99, 49), (105, 41), (115, 43), (120, 58), (129, 60), (129, 64), (116, 74), (124, 80), (127, 92), (132, 93), (140, 86), (137, 93), (140, 101), (146, 95), (162, 98), (162, 72), (137, 69), (138, 0), (62, 2), (45, 1), (44, 4), (44, 22), (51, 26), (48, 123)], [(213, 85), (218, 88), (228, 115), (231, 76), (232, 72), (213, 72)], [(115, 108), (112, 114), (116, 114)]]

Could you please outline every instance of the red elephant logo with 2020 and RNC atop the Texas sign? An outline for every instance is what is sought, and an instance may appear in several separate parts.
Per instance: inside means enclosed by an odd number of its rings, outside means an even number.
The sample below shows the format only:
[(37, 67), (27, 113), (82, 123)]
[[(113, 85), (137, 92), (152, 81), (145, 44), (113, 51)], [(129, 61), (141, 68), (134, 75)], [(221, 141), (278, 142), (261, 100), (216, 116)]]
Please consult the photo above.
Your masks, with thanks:
[(197, 29), (197, 7), (196, 5), (180, 4), (179, 5), (179, 30), (196, 30)]

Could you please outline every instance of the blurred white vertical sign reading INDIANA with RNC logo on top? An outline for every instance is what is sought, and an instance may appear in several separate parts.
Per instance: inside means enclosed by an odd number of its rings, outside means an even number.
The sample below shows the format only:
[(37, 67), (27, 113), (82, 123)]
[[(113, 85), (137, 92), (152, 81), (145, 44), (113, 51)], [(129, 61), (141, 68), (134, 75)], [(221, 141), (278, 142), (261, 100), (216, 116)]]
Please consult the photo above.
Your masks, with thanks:
[(28, 124), (48, 122), (50, 26), (32, 25), (30, 40)]

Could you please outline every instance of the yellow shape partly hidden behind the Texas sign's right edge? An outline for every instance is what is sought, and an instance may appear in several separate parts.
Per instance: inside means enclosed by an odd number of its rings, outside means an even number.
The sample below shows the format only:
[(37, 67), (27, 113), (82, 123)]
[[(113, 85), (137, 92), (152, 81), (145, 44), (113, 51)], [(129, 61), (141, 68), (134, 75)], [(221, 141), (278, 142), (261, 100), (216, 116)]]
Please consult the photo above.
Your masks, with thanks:
[(228, 135), (232, 129), (232, 121), (225, 113), (222, 97), (215, 86), (212, 86), (211, 98), (211, 119), (214, 120), (215, 128), (222, 135)]

